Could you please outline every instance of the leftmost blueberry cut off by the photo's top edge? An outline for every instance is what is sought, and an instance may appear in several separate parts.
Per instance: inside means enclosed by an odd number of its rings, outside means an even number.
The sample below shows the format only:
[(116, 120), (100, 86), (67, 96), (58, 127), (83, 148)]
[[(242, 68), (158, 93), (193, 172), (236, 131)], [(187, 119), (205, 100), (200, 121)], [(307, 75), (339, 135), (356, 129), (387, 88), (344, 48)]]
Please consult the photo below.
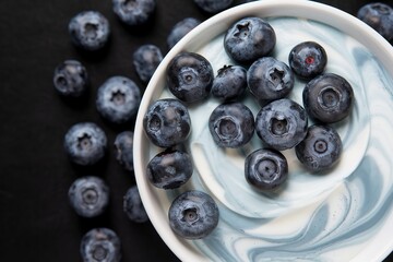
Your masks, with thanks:
[(112, 0), (112, 10), (126, 24), (145, 24), (153, 15), (156, 0)]

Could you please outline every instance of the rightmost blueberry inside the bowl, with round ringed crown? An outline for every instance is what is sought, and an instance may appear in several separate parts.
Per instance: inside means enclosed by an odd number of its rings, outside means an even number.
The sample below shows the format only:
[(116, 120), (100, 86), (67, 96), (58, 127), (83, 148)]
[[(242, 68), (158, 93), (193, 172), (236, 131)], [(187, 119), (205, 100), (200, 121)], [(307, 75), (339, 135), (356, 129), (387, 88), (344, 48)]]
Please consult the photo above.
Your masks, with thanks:
[(350, 114), (355, 98), (350, 84), (344, 78), (325, 73), (306, 85), (302, 99), (309, 117), (315, 121), (333, 123)]

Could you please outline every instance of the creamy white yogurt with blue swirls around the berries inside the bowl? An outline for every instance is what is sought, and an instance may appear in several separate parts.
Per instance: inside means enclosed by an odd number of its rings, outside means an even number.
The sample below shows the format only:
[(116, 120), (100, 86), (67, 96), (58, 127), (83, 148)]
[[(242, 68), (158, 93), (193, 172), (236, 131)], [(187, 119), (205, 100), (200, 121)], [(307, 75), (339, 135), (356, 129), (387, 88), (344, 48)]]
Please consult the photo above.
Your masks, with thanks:
[[(189, 241), (211, 261), (349, 261), (364, 249), (385, 222), (393, 205), (392, 76), (367, 48), (329, 25), (294, 17), (266, 19), (276, 33), (273, 57), (288, 64), (290, 49), (305, 40), (325, 48), (325, 72), (345, 78), (353, 86), (350, 116), (335, 124), (343, 141), (340, 163), (325, 174), (307, 171), (294, 150), (282, 153), (289, 175), (277, 192), (260, 192), (245, 179), (245, 158), (264, 147), (254, 134), (241, 148), (215, 145), (209, 117), (221, 104), (212, 96), (189, 107), (192, 133), (187, 148), (194, 164), (192, 178), (178, 190), (156, 189), (168, 210), (180, 192), (198, 189), (218, 205), (217, 228), (206, 238)], [(215, 74), (234, 64), (223, 46), (224, 35), (195, 51)], [(295, 81), (289, 98), (302, 105), (306, 82)], [(172, 97), (164, 88), (160, 98)], [(250, 93), (242, 102), (253, 115), (261, 106)], [(312, 124), (311, 120), (309, 124)], [(151, 144), (150, 157), (160, 152)]]

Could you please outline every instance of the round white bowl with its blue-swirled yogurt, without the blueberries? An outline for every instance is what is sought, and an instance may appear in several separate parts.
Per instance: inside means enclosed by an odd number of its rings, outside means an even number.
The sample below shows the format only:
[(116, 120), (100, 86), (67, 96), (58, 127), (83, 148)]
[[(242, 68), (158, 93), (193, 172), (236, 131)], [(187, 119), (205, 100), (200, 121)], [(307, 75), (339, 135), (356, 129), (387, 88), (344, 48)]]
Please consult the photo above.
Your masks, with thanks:
[[(171, 97), (165, 72), (178, 52), (195, 51), (215, 72), (233, 63), (223, 34), (245, 16), (266, 19), (277, 35), (274, 56), (288, 62), (291, 47), (315, 40), (325, 47), (326, 71), (352, 83), (356, 103), (349, 119), (335, 124), (344, 151), (331, 174), (314, 176), (284, 154), (289, 179), (281, 194), (262, 194), (243, 179), (245, 152), (223, 151), (212, 142), (206, 124), (218, 102), (190, 107), (192, 135), (188, 148), (194, 174), (179, 190), (153, 187), (145, 176), (160, 151), (144, 133), (148, 105)], [(312, 1), (264, 0), (242, 4), (203, 22), (165, 57), (143, 96), (134, 131), (134, 168), (141, 198), (154, 227), (182, 261), (381, 261), (393, 249), (393, 48), (356, 17)], [(301, 103), (305, 82), (296, 80), (290, 98)], [(255, 114), (258, 105), (245, 103)], [(253, 139), (245, 151), (260, 146)], [(199, 189), (217, 202), (221, 219), (206, 238), (184, 240), (168, 224), (171, 200)]]

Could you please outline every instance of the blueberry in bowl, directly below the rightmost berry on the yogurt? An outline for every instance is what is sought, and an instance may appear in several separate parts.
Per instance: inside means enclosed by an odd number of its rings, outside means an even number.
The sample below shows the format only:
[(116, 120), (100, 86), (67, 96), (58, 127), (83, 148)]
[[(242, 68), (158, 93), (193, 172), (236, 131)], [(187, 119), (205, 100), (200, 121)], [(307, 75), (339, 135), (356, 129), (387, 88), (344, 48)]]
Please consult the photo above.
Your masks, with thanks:
[(311, 171), (323, 171), (333, 167), (342, 153), (338, 133), (329, 126), (314, 124), (303, 141), (296, 147), (296, 156)]

